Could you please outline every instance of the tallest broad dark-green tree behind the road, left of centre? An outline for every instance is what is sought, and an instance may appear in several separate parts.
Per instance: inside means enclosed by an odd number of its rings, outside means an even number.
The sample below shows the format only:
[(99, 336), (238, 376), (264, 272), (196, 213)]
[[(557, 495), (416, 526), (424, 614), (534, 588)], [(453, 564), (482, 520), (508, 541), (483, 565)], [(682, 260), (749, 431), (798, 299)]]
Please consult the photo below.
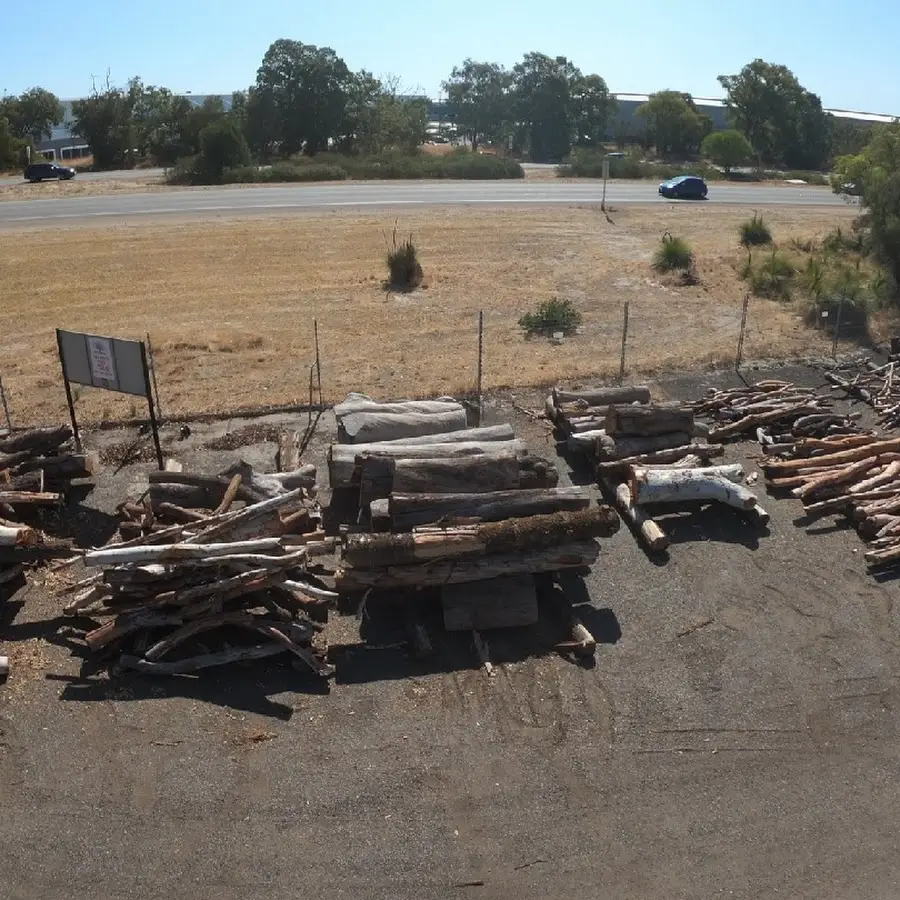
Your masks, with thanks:
[(351, 78), (346, 63), (328, 47), (275, 41), (256, 76), (267, 143), (277, 142), (286, 156), (327, 150), (329, 141), (344, 133)]

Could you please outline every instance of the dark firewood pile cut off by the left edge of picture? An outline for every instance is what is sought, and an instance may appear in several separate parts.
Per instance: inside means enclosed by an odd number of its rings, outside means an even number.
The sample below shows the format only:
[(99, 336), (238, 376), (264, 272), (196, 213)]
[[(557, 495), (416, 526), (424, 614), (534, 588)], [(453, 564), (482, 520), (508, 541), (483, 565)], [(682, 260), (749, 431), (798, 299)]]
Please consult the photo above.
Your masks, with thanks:
[(25, 563), (71, 554), (71, 543), (45, 535), (39, 512), (60, 507), (75, 479), (89, 478), (93, 458), (76, 453), (67, 425), (0, 438), (0, 584)]

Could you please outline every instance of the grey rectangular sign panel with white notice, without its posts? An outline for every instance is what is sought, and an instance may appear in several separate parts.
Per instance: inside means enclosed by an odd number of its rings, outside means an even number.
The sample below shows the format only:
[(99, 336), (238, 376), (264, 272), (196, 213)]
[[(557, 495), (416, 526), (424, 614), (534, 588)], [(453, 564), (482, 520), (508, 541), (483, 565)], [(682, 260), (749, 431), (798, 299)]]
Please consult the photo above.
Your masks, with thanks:
[(140, 341), (57, 331), (59, 353), (66, 378), (145, 397), (149, 390), (144, 345)]

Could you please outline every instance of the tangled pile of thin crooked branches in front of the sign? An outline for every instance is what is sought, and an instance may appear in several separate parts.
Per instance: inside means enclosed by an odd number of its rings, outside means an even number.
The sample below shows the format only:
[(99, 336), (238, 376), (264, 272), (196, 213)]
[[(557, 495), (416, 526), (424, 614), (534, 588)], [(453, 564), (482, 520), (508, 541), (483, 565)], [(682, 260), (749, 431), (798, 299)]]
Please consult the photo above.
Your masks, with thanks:
[(284, 511), (307, 499), (298, 487), (90, 551), (99, 571), (65, 589), (64, 612), (103, 620), (85, 640), (120, 668), (176, 675), (288, 653), (328, 676), (313, 639), (337, 595), (314, 561), (334, 541), (283, 533)]

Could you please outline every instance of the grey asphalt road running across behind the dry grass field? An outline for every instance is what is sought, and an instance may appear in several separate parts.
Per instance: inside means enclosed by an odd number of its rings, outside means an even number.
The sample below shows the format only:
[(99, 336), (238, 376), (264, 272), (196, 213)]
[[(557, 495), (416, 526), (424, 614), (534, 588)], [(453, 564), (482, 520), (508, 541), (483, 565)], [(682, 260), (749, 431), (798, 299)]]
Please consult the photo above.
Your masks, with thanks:
[[(0, 204), (0, 226), (66, 224), (97, 219), (141, 216), (275, 214), (289, 210), (340, 207), (453, 205), (599, 204), (602, 189), (585, 184), (527, 182), (382, 182), (376, 184), (291, 185), (278, 187), (207, 188), (149, 194), (120, 194), (72, 199), (9, 201)], [(607, 202), (663, 203), (655, 184), (612, 183)], [(841, 206), (827, 188), (715, 185), (708, 203), (741, 206)]]

